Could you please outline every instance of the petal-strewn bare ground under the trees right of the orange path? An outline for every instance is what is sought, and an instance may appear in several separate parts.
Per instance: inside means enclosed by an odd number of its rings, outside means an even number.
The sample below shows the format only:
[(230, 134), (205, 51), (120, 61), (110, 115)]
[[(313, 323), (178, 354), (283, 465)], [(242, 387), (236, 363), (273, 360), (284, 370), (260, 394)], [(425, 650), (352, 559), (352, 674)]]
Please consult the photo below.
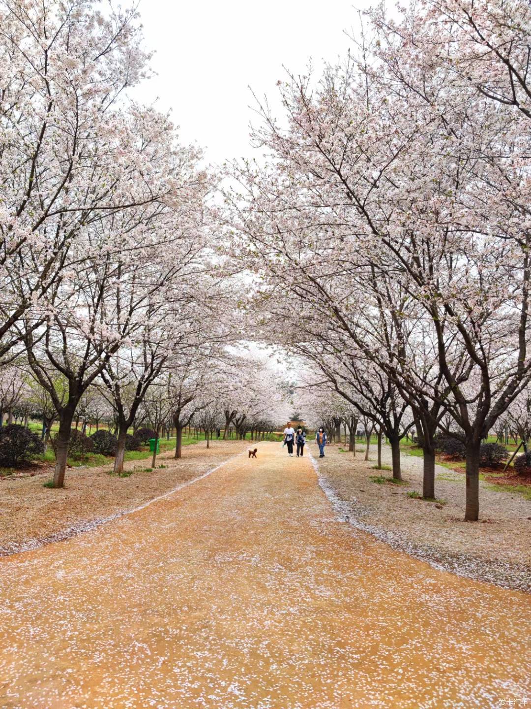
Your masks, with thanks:
[[(376, 460), (376, 446), (371, 446), (368, 461), (363, 452), (353, 457), (346, 447), (327, 446), (319, 462), (319, 481), (338, 515), (438, 568), (531, 593), (529, 499), (514, 488), (493, 489), (480, 480), (479, 523), (471, 524), (464, 521), (464, 469), (435, 466), (435, 495), (441, 504), (420, 498), (422, 457), (403, 452), (401, 485), (390, 484), (390, 467), (376, 470)], [(383, 446), (382, 462), (392, 465), (389, 445)], [(409, 497), (413, 491), (419, 498)]]

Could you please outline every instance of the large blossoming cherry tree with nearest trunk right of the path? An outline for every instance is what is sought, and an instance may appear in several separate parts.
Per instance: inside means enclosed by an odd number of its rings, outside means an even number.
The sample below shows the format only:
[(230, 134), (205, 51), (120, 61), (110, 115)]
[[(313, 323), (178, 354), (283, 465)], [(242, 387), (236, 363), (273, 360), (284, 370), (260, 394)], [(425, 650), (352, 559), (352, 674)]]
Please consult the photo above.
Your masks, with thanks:
[[(379, 18), (372, 56), (329, 67), (317, 86), (293, 76), (280, 85), (287, 128), (262, 109), (255, 139), (273, 160), (235, 167), (243, 192), (228, 197), (229, 222), (244, 234), (239, 253), (265, 281), (263, 298), (309, 303), (319, 347), (338, 360), (356, 349), (382, 369), (426, 424), (428, 447), (450, 413), (467, 447), (465, 518), (476, 520), (481, 440), (530, 376), (530, 133), (522, 112), (464, 90), (423, 53), (436, 30), (413, 14), (392, 40)], [(380, 283), (392, 286), (390, 303)], [(392, 322), (401, 302), (421, 325), (391, 359), (394, 347), (382, 354), (367, 323), (382, 313)], [(337, 352), (319, 337), (319, 318), (338, 333)], [(395, 325), (396, 345), (406, 324)], [(404, 355), (426, 329), (435, 362), (417, 366), (417, 357), (410, 369)]]

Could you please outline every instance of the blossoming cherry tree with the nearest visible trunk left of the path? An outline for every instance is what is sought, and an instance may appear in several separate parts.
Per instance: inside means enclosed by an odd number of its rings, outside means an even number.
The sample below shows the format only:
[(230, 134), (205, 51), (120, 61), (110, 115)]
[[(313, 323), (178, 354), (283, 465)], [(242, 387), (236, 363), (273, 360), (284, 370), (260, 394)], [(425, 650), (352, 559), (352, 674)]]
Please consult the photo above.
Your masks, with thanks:
[[(16, 324), (23, 335), (30, 367), (57, 408), (56, 486), (62, 486), (64, 479), (72, 419), (81, 396), (103, 372), (109, 375), (110, 362), (124, 345), (137, 350), (137, 343), (146, 342), (150, 333), (154, 340), (159, 319), (168, 313), (168, 303), (177, 300), (175, 292), (181, 262), (173, 259), (170, 243), (166, 247), (161, 244), (164, 231), (176, 231), (173, 229), (176, 219), (173, 209), (169, 207), (167, 212), (150, 219), (147, 230), (143, 217), (135, 219), (132, 228), (135, 225), (139, 228), (142, 250), (136, 246), (134, 250), (127, 249), (130, 232), (121, 220), (120, 223), (116, 220), (108, 223), (113, 224), (116, 231), (108, 233), (103, 228), (99, 233), (94, 232), (93, 242), (100, 242), (102, 250), (105, 242), (112, 238), (113, 251), (86, 262), (85, 268), (70, 274), (69, 279), (63, 274), (60, 287), (55, 290), (52, 301), (47, 303), (52, 312), (40, 328), (33, 328), (25, 316)], [(117, 242), (124, 230), (122, 250), (117, 251)], [(149, 342), (148, 337), (147, 347), (140, 347), (140, 350), (149, 359), (156, 345)], [(149, 366), (147, 364), (146, 368)], [(64, 403), (60, 401), (50, 376), (54, 370), (68, 381), (68, 397)]]

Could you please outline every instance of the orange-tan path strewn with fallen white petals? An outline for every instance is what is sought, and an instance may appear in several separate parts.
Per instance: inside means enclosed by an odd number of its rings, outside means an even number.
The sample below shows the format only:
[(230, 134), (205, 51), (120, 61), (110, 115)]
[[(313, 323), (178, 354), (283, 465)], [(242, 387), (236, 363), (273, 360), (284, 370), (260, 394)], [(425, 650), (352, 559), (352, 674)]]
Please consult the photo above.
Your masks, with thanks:
[(309, 460), (274, 443), (0, 559), (0, 596), (2, 708), (531, 702), (529, 597), (336, 521)]

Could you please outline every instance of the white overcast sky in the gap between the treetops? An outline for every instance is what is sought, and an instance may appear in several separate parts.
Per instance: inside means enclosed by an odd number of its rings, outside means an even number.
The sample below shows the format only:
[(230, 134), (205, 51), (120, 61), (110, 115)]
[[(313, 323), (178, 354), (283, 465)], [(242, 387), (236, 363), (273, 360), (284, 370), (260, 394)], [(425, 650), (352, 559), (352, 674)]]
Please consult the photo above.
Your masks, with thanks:
[(252, 155), (249, 86), (277, 107), (282, 65), (302, 74), (310, 57), (316, 68), (335, 61), (351, 45), (343, 30), (358, 24), (352, 0), (141, 0), (139, 11), (158, 75), (134, 95), (171, 108), (182, 142), (215, 164)]

